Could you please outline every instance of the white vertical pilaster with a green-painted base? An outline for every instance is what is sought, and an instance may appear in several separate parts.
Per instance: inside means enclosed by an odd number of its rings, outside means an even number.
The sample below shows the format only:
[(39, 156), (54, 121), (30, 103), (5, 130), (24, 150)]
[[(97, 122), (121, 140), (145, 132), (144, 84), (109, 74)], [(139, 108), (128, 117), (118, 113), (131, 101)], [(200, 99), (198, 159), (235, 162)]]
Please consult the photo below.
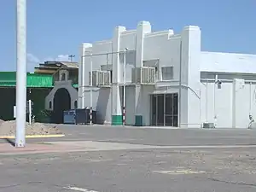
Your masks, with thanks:
[[(117, 26), (113, 32), (112, 51), (120, 51), (120, 36), (125, 32), (125, 26)], [(122, 125), (123, 115), (121, 107), (121, 91), (119, 83), (121, 81), (121, 66), (119, 54), (113, 54), (113, 85), (112, 85), (112, 125)]]

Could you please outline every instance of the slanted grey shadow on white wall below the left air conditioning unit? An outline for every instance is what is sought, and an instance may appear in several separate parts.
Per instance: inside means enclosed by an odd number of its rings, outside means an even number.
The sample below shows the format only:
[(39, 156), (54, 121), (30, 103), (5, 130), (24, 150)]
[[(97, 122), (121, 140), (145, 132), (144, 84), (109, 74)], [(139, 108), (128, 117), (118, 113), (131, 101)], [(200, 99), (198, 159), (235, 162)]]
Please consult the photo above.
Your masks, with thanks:
[(104, 124), (107, 115), (110, 89), (102, 88), (99, 90), (98, 101), (96, 104), (97, 124)]

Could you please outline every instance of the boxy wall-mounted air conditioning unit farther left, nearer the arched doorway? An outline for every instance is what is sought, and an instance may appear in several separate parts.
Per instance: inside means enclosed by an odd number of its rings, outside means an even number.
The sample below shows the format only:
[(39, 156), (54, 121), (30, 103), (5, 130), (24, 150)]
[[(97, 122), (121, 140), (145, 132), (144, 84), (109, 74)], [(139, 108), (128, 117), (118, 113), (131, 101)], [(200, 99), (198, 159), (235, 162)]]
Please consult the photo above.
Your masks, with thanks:
[(92, 86), (109, 87), (111, 82), (110, 71), (92, 71)]

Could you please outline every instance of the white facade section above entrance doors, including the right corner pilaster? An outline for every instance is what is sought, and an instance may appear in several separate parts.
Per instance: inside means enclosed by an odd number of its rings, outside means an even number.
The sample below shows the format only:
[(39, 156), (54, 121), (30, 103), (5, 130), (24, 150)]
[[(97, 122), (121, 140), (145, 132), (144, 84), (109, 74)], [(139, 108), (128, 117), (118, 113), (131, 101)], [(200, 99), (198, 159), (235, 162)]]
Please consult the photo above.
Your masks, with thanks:
[[(186, 26), (183, 32), (173, 31), (149, 33), (145, 38), (144, 60), (160, 59), (159, 68), (173, 67), (173, 79), (163, 81), (159, 71), (156, 84), (179, 94), (179, 125), (200, 127), (200, 60), (201, 30), (197, 26)], [(166, 89), (165, 89), (166, 87)], [(159, 93), (160, 90), (158, 90)], [(190, 103), (194, 103), (194, 107)]]

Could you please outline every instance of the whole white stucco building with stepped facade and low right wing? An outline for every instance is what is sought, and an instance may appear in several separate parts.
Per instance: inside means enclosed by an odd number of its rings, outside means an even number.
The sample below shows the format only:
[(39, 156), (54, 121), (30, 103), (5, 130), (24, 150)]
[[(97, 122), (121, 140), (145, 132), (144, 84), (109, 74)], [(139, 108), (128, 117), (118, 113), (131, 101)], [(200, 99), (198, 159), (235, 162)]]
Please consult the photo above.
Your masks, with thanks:
[(112, 39), (82, 44), (81, 55), (79, 108), (90, 107), (91, 89), (102, 123), (122, 124), (124, 84), (126, 125), (247, 128), (256, 115), (256, 55), (201, 51), (198, 26), (178, 34), (148, 21), (117, 26)]

